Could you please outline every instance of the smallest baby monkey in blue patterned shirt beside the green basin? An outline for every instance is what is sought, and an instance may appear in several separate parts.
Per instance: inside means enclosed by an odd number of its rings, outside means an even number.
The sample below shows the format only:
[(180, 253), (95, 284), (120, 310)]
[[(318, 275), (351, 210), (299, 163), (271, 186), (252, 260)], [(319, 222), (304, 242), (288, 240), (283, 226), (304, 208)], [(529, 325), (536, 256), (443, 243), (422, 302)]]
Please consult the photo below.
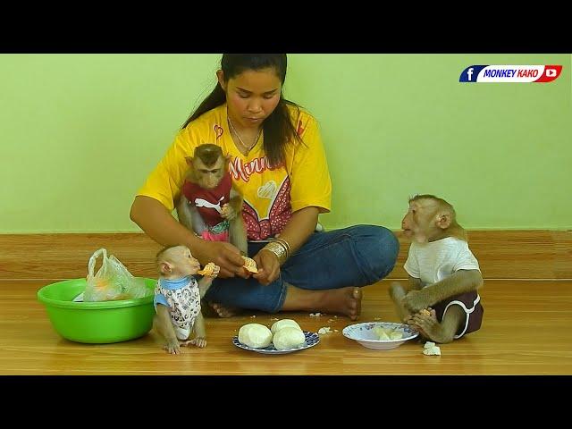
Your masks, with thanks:
[[(205, 296), (220, 267), (209, 263), (204, 277), (197, 282), (194, 274), (200, 273), (200, 265), (186, 246), (163, 248), (157, 253), (156, 265), (160, 276), (153, 301), (156, 309), (153, 326), (165, 341), (164, 349), (176, 355), (181, 353), (181, 346), (206, 347), (200, 299)], [(191, 333), (194, 333), (192, 339)]]

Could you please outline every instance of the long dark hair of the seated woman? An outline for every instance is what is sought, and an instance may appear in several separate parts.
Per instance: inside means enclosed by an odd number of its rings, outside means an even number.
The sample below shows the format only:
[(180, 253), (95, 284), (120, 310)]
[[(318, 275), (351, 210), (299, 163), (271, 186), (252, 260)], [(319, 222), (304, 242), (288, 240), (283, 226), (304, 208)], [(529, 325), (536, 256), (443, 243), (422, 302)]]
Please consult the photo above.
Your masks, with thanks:
[[(272, 68), (280, 78), (282, 86), (286, 80), (286, 54), (223, 54), (221, 59), (221, 69), (224, 73), (224, 80), (228, 81), (238, 76), (243, 71), (262, 70)], [(198, 106), (182, 128), (189, 125), (189, 122), (197, 119), (201, 114), (223, 105), (226, 102), (221, 84), (216, 82), (216, 87)], [(280, 101), (273, 113), (263, 122), (265, 131), (265, 153), (271, 165), (283, 164), (285, 161), (284, 147), (290, 139), (301, 142), (298, 132), (290, 120), (288, 105), (293, 105), (299, 109), (299, 105), (285, 99), (280, 92)]]

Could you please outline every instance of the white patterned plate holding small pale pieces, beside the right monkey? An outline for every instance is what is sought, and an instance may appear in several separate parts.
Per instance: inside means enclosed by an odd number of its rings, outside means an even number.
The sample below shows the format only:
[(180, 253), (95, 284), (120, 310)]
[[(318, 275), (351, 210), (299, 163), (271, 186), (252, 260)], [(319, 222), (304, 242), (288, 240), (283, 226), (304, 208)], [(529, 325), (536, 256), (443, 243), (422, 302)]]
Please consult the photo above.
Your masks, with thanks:
[[(403, 332), (400, 340), (379, 340), (374, 332), (374, 327), (397, 329)], [(357, 341), (367, 349), (395, 349), (405, 341), (413, 340), (419, 335), (415, 329), (408, 324), (397, 324), (394, 322), (366, 322), (363, 324), (350, 324), (343, 328), (343, 336), (349, 340)]]

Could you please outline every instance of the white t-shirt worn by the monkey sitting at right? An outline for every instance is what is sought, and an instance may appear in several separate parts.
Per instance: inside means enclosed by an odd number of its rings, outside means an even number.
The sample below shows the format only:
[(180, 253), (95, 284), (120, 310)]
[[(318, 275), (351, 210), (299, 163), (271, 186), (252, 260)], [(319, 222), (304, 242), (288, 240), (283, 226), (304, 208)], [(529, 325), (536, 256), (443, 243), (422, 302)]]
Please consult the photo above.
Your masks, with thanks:
[(480, 270), (467, 241), (455, 237), (427, 243), (411, 242), (408, 260), (403, 265), (411, 277), (428, 286), (449, 277), (458, 270)]

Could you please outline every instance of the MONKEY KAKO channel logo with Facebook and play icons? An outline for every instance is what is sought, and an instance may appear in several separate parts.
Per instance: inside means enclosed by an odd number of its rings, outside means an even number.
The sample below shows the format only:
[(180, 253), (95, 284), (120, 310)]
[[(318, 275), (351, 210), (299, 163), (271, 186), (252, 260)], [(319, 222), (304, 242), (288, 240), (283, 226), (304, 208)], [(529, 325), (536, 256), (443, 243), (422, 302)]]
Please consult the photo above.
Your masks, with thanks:
[(459, 82), (540, 82), (558, 79), (561, 65), (469, 65), (458, 78)]

